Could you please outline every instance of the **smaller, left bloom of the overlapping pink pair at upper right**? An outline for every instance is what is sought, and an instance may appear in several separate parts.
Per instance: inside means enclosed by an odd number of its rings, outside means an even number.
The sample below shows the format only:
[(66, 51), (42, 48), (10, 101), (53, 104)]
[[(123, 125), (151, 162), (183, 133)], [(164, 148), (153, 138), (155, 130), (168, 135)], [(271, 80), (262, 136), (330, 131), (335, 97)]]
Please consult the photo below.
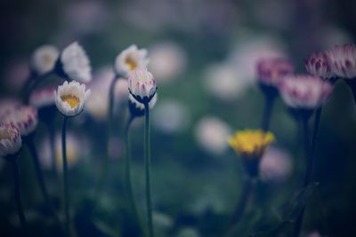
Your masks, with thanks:
[(305, 59), (305, 68), (311, 75), (320, 76), (323, 79), (335, 76), (328, 64), (328, 56), (325, 52), (312, 53), (309, 59)]

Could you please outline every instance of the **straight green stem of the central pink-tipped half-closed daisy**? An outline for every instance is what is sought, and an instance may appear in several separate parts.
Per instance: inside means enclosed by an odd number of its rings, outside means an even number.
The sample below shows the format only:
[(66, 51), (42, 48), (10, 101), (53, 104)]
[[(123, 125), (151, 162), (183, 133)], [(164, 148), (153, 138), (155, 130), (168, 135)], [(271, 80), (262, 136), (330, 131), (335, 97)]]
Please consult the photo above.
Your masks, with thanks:
[(145, 166), (146, 166), (146, 205), (147, 219), (149, 225), (149, 236), (153, 237), (152, 224), (152, 201), (150, 196), (150, 107), (149, 103), (144, 103), (145, 107)]

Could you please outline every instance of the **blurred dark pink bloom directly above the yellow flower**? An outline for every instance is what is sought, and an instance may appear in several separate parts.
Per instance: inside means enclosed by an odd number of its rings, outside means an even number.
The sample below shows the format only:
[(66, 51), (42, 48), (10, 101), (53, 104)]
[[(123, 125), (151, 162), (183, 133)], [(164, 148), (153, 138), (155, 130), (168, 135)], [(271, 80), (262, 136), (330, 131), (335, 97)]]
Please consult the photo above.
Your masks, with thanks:
[(278, 86), (284, 75), (293, 74), (295, 67), (284, 58), (266, 58), (257, 62), (257, 75), (260, 83)]

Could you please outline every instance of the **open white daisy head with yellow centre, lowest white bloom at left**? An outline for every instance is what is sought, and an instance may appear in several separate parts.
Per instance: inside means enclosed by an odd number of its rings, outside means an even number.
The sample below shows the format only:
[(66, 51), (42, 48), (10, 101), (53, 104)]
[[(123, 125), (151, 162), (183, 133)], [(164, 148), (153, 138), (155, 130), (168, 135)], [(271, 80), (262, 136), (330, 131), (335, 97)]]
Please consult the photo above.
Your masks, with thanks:
[(90, 95), (90, 90), (85, 91), (85, 84), (78, 82), (64, 82), (54, 91), (54, 99), (57, 108), (62, 115), (79, 115), (85, 106), (85, 101)]

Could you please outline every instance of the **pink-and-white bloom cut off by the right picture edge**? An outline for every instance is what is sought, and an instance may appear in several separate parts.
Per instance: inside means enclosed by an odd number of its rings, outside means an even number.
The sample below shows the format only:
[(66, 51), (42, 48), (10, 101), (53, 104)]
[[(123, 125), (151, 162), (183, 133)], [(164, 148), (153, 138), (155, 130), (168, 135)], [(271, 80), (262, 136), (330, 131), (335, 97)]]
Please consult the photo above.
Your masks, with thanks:
[(336, 45), (326, 54), (332, 73), (347, 79), (356, 76), (356, 46), (354, 44)]

